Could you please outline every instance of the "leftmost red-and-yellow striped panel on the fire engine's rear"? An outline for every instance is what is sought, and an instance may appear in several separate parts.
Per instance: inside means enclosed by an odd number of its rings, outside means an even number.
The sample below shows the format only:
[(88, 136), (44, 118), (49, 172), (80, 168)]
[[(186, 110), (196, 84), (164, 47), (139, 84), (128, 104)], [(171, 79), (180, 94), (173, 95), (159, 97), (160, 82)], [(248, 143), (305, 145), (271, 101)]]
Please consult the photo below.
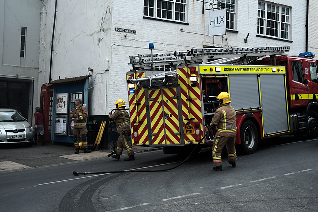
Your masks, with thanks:
[[(134, 77), (134, 74), (130, 76)], [(145, 73), (138, 73), (136, 77), (142, 78)], [(128, 79), (128, 76), (127, 76)], [(140, 103), (140, 104), (137, 104)], [(148, 129), (146, 122), (146, 107), (145, 107), (145, 90), (135, 89), (135, 93), (129, 94), (129, 111), (131, 119), (131, 133), (133, 145), (148, 145)], [(142, 122), (137, 122), (142, 121)], [(138, 128), (138, 139), (133, 136), (133, 126), (136, 125)]]

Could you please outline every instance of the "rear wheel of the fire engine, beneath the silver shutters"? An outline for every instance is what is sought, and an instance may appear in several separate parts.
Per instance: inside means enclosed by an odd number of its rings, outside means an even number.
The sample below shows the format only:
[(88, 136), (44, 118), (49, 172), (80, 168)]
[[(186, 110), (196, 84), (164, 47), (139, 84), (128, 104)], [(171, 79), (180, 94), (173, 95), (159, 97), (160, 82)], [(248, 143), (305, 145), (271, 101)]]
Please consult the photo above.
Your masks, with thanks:
[(258, 132), (254, 122), (245, 121), (240, 128), (240, 147), (246, 154), (252, 154), (256, 151), (258, 145)]

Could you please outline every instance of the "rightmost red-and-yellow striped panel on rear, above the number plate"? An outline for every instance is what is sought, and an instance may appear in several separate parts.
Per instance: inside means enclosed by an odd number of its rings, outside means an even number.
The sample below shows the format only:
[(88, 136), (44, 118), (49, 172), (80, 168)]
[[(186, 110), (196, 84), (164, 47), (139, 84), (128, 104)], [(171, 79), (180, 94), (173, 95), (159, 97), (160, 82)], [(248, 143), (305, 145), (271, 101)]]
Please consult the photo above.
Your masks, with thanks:
[[(196, 82), (197, 86), (192, 87), (188, 85), (188, 73), (184, 68), (178, 69), (179, 74), (179, 84), (181, 88), (181, 102), (182, 102), (182, 119), (183, 126), (189, 122), (191, 125), (194, 125), (195, 122), (200, 123), (201, 136), (202, 136), (202, 113), (201, 113), (201, 95), (200, 95), (200, 85), (199, 82)], [(195, 75), (198, 76), (198, 71), (195, 72)], [(192, 99), (189, 101), (188, 99)], [(194, 118), (194, 120), (186, 120), (189, 118)], [(182, 127), (183, 127), (182, 126)], [(196, 134), (184, 134), (184, 143), (197, 142), (195, 141)]]

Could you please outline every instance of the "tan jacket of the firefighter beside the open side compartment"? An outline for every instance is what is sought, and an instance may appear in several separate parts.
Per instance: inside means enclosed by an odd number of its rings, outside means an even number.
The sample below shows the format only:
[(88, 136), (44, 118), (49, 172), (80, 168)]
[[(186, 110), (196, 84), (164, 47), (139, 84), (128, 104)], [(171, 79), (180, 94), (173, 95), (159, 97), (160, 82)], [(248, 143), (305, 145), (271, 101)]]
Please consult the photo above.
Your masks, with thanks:
[(229, 103), (223, 104), (217, 107), (210, 126), (218, 127), (217, 135), (232, 137), (237, 134), (236, 120), (237, 117), (234, 108)]

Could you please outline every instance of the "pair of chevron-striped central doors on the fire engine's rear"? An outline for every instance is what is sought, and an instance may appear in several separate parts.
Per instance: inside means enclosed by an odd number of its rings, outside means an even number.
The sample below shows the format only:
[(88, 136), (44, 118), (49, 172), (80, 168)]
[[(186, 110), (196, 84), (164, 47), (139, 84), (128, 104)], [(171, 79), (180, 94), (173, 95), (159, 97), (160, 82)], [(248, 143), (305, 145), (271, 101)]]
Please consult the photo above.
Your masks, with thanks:
[(178, 87), (148, 90), (149, 144), (180, 144), (177, 90)]

